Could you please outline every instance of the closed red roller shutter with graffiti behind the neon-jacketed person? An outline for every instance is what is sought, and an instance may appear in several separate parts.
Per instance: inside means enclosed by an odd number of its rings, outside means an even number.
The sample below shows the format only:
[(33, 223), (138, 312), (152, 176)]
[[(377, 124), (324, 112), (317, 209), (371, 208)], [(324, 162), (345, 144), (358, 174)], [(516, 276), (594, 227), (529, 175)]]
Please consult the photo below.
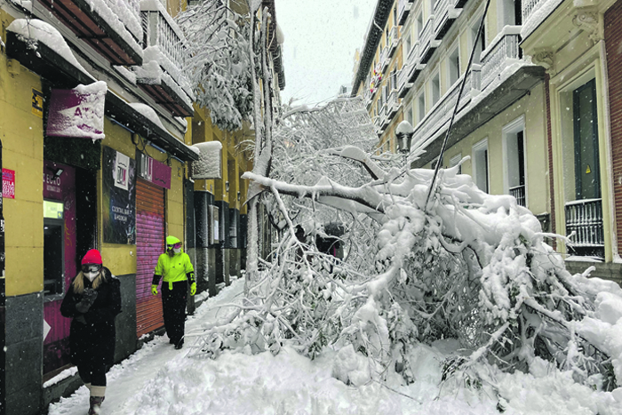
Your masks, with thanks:
[(136, 183), (136, 334), (164, 325), (162, 298), (151, 294), (157, 257), (164, 251), (164, 190), (148, 181)]

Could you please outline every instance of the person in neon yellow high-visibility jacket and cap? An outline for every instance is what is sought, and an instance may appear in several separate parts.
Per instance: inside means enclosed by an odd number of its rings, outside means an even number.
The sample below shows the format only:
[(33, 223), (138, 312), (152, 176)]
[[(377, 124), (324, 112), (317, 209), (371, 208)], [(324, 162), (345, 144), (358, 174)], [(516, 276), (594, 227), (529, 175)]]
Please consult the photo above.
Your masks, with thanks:
[(157, 295), (157, 284), (162, 277), (164, 327), (169, 342), (179, 349), (184, 345), (187, 283), (190, 282), (190, 295), (195, 295), (196, 281), (190, 257), (181, 250), (181, 241), (175, 236), (166, 236), (166, 252), (157, 259), (151, 283), (153, 295)]

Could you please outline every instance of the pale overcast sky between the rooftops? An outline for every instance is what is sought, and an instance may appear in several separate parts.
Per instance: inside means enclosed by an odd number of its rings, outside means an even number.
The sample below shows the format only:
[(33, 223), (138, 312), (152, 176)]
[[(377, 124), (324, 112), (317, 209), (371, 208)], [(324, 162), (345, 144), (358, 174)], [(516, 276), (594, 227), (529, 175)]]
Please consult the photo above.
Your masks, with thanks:
[(377, 0), (275, 0), (283, 31), (283, 103), (314, 105), (337, 96), (351, 84), (356, 48)]

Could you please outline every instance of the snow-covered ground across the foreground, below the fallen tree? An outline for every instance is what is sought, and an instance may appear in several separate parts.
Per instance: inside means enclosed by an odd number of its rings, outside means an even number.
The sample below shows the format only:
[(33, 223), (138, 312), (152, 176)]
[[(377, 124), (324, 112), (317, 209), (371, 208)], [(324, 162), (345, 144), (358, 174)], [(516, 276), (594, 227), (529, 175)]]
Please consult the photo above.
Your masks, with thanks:
[[(215, 298), (198, 307), (187, 320), (187, 332), (217, 317), (218, 306), (240, 299), (243, 281), (236, 280)], [(222, 308), (220, 308), (222, 313)], [(221, 314), (219, 314), (221, 315)], [(164, 335), (114, 366), (108, 373), (102, 415), (193, 414), (498, 414), (498, 400), (482, 387), (439, 388), (444, 347), (421, 346), (417, 380), (400, 386), (370, 382), (347, 386), (333, 376), (352, 361), (343, 353), (324, 351), (315, 361), (283, 348), (276, 356), (225, 352), (218, 359), (189, 356), (193, 341), (174, 350)], [(568, 373), (495, 373), (504, 396), (506, 414), (610, 414), (622, 413), (614, 393), (594, 392), (575, 383)], [(49, 408), (51, 415), (84, 415), (88, 393), (76, 394)]]

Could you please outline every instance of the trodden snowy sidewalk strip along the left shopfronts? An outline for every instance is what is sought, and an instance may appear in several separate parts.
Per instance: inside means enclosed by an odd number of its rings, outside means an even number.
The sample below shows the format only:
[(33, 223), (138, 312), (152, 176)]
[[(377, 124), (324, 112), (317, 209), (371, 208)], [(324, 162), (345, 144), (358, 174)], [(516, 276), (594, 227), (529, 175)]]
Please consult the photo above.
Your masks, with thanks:
[[(235, 302), (243, 291), (243, 279), (235, 280), (230, 286), (219, 292), (219, 295), (208, 299), (190, 315), (186, 322), (186, 332), (200, 329), (203, 323), (213, 321), (219, 312), (218, 306)], [(220, 312), (219, 315), (222, 315)], [(113, 366), (108, 371), (108, 387), (106, 400), (101, 407), (101, 415), (133, 415), (138, 411), (135, 396), (148, 386), (166, 363), (181, 361), (186, 358), (192, 339), (187, 339), (186, 347), (175, 350), (166, 335), (146, 343), (140, 350)], [(52, 403), (50, 415), (84, 415), (89, 409), (89, 393), (86, 387), (80, 387), (74, 395), (61, 398), (60, 402)]]

